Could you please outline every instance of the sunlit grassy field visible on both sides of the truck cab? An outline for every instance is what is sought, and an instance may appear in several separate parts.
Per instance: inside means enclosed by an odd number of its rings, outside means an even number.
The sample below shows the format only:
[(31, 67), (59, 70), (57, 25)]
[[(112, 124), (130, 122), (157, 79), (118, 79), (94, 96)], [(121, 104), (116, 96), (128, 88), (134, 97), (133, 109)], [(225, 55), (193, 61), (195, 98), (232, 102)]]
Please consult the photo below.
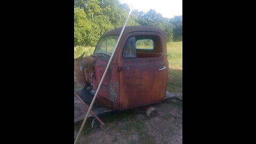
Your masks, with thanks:
[[(167, 54), (169, 62), (169, 83), (167, 90), (175, 93), (182, 93), (182, 42), (167, 43)], [(83, 52), (85, 55), (91, 55), (94, 47), (77, 46), (74, 49), (75, 58)], [(75, 76), (75, 75), (74, 75)], [(74, 89), (82, 88), (75, 81)]]

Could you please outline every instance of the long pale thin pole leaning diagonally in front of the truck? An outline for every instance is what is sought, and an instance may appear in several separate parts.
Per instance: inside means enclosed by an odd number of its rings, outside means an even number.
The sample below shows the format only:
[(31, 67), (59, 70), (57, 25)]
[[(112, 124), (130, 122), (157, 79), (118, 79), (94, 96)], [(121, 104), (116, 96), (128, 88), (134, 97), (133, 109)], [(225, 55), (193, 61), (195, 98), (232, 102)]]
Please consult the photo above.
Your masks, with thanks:
[(105, 71), (104, 71), (104, 73), (103, 73), (103, 76), (102, 76), (102, 78), (101, 78), (101, 80), (100, 80), (98, 89), (97, 89), (97, 91), (95, 92), (95, 95), (94, 95), (94, 97), (93, 97), (93, 99), (92, 99), (91, 105), (90, 105), (90, 107), (89, 107), (89, 109), (88, 109), (88, 111), (87, 111), (87, 113), (86, 113), (86, 115), (85, 115), (84, 121), (83, 121), (83, 123), (82, 123), (82, 125), (81, 125), (81, 127), (80, 127), (80, 130), (79, 130), (79, 132), (78, 132), (78, 134), (77, 134), (77, 136), (76, 136), (76, 140), (75, 140), (74, 144), (76, 144), (76, 142), (77, 142), (77, 140), (78, 140), (78, 137), (79, 137), (79, 135), (80, 135), (81, 132), (82, 132), (82, 129), (83, 129), (83, 127), (84, 127), (84, 124), (85, 124), (85, 122), (86, 122), (86, 119), (87, 119), (87, 117), (88, 117), (88, 114), (90, 113), (90, 111), (91, 111), (91, 109), (92, 109), (92, 106), (93, 106), (93, 103), (94, 103), (94, 101), (95, 101), (95, 99), (96, 99), (96, 97), (97, 97), (97, 95), (98, 95), (98, 93), (99, 93), (99, 90), (100, 90), (100, 87), (101, 87), (101, 85), (102, 85), (103, 79), (105, 78), (105, 76), (106, 76), (106, 74), (107, 74), (107, 71), (108, 71), (108, 68), (109, 68), (109, 66), (110, 66), (110, 63), (111, 63), (111, 61), (112, 61), (112, 59), (113, 59), (113, 57), (114, 57), (114, 54), (115, 54), (115, 52), (116, 52), (117, 45), (118, 45), (118, 43), (119, 43), (119, 41), (120, 41), (120, 39), (121, 39), (121, 36), (123, 35), (124, 28), (125, 28), (125, 26), (126, 26), (126, 24), (127, 24), (127, 22), (128, 22), (128, 19), (129, 19), (129, 17), (130, 17), (130, 14), (132, 13), (132, 9), (133, 9), (133, 5), (131, 6), (131, 10), (130, 10), (130, 12), (129, 12), (127, 18), (126, 18), (126, 21), (125, 21), (125, 23), (124, 23), (123, 29), (122, 29), (122, 31), (121, 31), (121, 33), (120, 33), (118, 39), (117, 39), (115, 49), (114, 49), (113, 53), (111, 54), (111, 57), (110, 57), (110, 59), (109, 59), (109, 61), (108, 61), (108, 65), (107, 65), (107, 67), (106, 67), (106, 69), (105, 69)]

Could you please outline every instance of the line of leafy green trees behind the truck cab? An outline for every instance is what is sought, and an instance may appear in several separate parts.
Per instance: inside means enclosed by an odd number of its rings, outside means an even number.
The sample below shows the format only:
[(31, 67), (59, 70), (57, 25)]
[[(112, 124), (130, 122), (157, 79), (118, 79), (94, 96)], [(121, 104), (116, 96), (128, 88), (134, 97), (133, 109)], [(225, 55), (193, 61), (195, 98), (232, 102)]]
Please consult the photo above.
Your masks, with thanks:
[[(74, 0), (74, 44), (95, 46), (102, 34), (123, 27), (130, 7), (119, 0)], [(182, 15), (164, 18), (155, 10), (133, 10), (127, 26), (154, 26), (162, 29), (166, 42), (182, 41)]]

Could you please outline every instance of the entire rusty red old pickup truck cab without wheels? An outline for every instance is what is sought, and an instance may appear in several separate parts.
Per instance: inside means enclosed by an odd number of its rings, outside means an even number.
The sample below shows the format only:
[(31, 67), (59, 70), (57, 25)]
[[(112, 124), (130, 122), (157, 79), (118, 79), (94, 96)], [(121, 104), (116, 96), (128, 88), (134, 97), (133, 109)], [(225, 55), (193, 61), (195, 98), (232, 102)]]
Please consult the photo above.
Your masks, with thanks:
[[(97, 61), (91, 72), (83, 70), (86, 84), (93, 86), (92, 91), (98, 88), (121, 30), (110, 30), (101, 36), (91, 55)], [(99, 91), (97, 105), (125, 110), (161, 102), (165, 97), (168, 69), (162, 30), (148, 26), (125, 27)]]

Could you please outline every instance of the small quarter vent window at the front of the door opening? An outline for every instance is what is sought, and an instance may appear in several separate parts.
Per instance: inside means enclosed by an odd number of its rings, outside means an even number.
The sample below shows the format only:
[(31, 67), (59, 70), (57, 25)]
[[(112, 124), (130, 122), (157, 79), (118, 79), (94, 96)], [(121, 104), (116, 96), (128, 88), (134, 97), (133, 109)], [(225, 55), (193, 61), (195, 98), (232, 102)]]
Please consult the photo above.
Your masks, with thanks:
[(123, 56), (124, 58), (136, 58), (135, 37), (129, 38), (125, 44)]

